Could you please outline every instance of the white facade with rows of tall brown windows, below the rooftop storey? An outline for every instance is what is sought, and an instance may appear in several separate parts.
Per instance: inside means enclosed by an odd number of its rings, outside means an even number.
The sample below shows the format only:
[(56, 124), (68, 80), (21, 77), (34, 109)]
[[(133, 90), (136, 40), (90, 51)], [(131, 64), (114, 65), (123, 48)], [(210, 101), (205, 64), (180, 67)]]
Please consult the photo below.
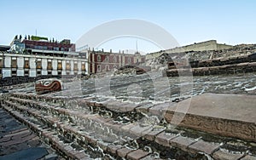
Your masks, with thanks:
[(88, 54), (50, 56), (0, 52), (0, 77), (88, 74)]

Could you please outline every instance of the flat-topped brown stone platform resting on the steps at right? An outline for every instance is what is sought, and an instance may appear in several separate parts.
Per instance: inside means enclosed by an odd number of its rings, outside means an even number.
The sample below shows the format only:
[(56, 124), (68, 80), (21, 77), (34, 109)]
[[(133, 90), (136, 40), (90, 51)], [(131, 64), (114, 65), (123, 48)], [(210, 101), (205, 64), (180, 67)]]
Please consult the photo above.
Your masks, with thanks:
[(256, 96), (201, 94), (166, 108), (166, 121), (180, 126), (256, 141)]

